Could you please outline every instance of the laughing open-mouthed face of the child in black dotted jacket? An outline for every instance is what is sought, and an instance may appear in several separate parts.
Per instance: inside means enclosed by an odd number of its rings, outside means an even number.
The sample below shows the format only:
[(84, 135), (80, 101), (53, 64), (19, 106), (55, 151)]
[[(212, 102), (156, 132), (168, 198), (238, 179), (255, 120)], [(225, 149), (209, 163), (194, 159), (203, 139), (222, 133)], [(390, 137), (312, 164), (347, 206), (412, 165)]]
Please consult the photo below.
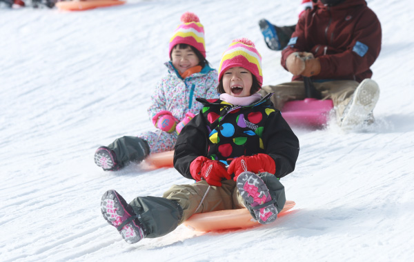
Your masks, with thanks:
[(249, 97), (253, 84), (252, 73), (241, 67), (230, 68), (223, 74), (223, 88), (233, 97)]

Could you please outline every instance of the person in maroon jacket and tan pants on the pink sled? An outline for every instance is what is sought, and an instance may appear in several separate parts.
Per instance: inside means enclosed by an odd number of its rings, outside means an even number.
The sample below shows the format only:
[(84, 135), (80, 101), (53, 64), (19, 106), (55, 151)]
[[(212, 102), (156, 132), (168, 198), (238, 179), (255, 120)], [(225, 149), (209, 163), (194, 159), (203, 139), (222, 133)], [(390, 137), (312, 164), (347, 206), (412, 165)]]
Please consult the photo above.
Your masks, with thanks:
[(282, 66), (293, 81), (268, 85), (272, 102), (282, 109), (286, 101), (306, 98), (304, 85), (322, 99), (332, 99), (339, 125), (372, 121), (380, 89), (371, 80), (370, 67), (381, 50), (382, 31), (364, 0), (319, 0), (300, 17)]

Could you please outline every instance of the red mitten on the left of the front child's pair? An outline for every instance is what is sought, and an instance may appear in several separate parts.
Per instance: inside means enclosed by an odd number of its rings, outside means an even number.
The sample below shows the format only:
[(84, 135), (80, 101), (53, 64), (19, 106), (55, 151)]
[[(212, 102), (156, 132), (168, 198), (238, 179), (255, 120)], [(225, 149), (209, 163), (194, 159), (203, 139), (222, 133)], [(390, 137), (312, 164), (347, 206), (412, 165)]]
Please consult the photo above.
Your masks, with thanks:
[(195, 181), (204, 179), (208, 185), (221, 186), (221, 179), (231, 179), (224, 163), (201, 156), (191, 162), (190, 173)]

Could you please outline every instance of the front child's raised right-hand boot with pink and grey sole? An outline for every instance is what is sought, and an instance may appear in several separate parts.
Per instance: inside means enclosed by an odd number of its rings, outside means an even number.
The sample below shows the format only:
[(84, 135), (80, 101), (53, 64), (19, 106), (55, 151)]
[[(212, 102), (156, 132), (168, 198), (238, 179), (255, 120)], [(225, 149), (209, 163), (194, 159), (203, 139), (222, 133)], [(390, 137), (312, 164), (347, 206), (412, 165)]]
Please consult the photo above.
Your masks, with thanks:
[(254, 212), (256, 220), (268, 224), (277, 219), (275, 201), (270, 197), (264, 181), (253, 172), (242, 172), (237, 177), (237, 188), (249, 211)]

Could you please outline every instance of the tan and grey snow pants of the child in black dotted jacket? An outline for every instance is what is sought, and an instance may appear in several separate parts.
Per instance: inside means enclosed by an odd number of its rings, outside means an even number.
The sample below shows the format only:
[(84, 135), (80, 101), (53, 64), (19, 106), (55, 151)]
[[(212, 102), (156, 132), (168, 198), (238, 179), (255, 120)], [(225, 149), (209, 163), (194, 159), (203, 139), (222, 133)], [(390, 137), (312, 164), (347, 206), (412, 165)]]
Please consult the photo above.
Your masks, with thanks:
[[(284, 185), (279, 182), (275, 175), (264, 172), (259, 173), (266, 183), (270, 196), (275, 199), (277, 212), (280, 212), (286, 202)], [(162, 197), (138, 196), (130, 202), (135, 214), (139, 214), (141, 223), (144, 224), (148, 238), (164, 236), (178, 225), (186, 221), (196, 213), (205, 213), (218, 210), (233, 210), (246, 208), (236, 182), (226, 180), (221, 182), (221, 187), (211, 186), (208, 190), (206, 181), (199, 181), (190, 185), (172, 185), (164, 192)], [(208, 193), (206, 194), (208, 190)], [(201, 203), (204, 194), (206, 197)], [(201, 203), (199, 209), (197, 207)], [(253, 210), (249, 210), (253, 218)]]

